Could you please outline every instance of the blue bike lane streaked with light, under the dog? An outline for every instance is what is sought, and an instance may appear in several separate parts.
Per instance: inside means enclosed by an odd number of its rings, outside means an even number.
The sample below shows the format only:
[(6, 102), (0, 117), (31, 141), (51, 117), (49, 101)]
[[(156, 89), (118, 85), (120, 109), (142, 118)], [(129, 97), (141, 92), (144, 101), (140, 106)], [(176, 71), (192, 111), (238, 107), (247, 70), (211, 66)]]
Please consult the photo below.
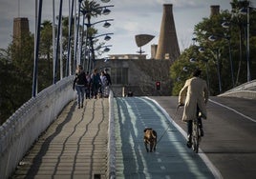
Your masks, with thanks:
[[(117, 178), (222, 178), (209, 160), (187, 149), (179, 127), (147, 97), (115, 98)], [(158, 132), (156, 152), (146, 152), (143, 129)]]

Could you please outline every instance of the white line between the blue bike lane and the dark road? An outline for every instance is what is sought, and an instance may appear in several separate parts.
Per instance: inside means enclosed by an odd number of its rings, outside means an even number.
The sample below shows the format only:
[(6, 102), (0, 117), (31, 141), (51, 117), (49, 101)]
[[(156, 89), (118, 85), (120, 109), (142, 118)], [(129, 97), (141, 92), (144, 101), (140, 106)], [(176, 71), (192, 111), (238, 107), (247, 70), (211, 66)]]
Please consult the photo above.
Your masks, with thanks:
[[(178, 129), (181, 132), (181, 134), (184, 136), (184, 138), (186, 138), (186, 132), (183, 129), (181, 129), (181, 127), (174, 120), (172, 120), (172, 118), (169, 116), (169, 114), (166, 112), (166, 110), (161, 108), (160, 104), (156, 100), (151, 99), (149, 97), (145, 97), (145, 98), (153, 101), (160, 108), (160, 110), (163, 112), (165, 117), (174, 125), (174, 127), (176, 129)], [(203, 153), (202, 149), (199, 149), (199, 156), (202, 158), (204, 164), (207, 166), (208, 169), (210, 169), (210, 171), (212, 172), (212, 174), (214, 175), (214, 177), (216, 179), (223, 179), (223, 176), (222, 176), (221, 172), (219, 171), (219, 169), (217, 169), (211, 163), (211, 161), (208, 159), (208, 157)]]

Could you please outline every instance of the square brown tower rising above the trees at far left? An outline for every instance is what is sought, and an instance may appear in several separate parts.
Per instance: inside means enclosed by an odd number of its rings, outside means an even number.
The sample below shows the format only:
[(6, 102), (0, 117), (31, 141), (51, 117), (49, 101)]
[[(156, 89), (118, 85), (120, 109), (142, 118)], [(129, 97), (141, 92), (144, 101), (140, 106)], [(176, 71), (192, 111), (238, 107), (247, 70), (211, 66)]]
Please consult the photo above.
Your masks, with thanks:
[(30, 32), (29, 20), (26, 17), (17, 17), (13, 19), (13, 37), (12, 41), (18, 46), (22, 44), (22, 38)]

